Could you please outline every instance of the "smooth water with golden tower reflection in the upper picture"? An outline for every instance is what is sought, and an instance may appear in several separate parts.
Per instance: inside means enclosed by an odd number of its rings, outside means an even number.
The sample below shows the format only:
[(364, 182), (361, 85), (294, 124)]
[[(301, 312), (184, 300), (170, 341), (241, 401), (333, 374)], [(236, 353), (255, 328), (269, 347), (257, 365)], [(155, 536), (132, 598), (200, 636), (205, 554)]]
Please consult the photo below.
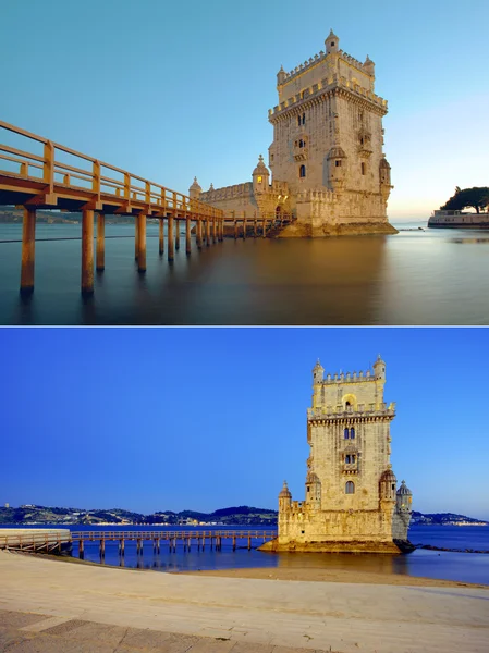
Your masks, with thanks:
[[(426, 223), (398, 224), (406, 229)], [(0, 224), (0, 241), (21, 238)], [(80, 296), (77, 225), (37, 225), (36, 292), (19, 296), (21, 244), (0, 242), (2, 324), (488, 324), (488, 232), (225, 239), (169, 264), (148, 224), (146, 275), (134, 226), (106, 227), (106, 271)], [(118, 236), (118, 237), (109, 237)], [(125, 237), (121, 237), (125, 236)], [(130, 237), (131, 236), (131, 237)], [(41, 241), (41, 238), (59, 238)]]

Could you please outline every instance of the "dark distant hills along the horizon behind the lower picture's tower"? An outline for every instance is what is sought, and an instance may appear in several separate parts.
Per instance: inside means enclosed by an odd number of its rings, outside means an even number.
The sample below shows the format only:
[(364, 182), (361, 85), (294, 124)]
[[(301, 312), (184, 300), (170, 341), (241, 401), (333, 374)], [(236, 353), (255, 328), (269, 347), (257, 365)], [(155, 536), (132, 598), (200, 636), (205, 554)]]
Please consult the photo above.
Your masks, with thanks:
[[(186, 525), (186, 523), (222, 523), (277, 526), (277, 510), (270, 508), (255, 508), (252, 506), (232, 506), (220, 508), (213, 513), (198, 513), (196, 510), (157, 512), (152, 515), (143, 515), (122, 508), (83, 509), (47, 507), (37, 505), (23, 505), (17, 508), (0, 508), (0, 525), (29, 525), (29, 523), (134, 523), (134, 525)], [(488, 521), (474, 519), (454, 513), (423, 514), (413, 512), (412, 523), (421, 526), (489, 526)]]

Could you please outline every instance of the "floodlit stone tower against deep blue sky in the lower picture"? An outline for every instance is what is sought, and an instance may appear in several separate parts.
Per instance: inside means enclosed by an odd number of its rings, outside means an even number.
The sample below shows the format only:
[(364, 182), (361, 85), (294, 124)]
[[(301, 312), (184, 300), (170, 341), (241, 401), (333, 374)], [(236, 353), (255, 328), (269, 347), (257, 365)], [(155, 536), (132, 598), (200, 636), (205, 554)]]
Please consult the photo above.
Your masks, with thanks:
[(374, 370), (323, 374), (313, 370), (313, 406), (307, 410), (306, 497), (292, 501), (284, 483), (279, 497), (276, 551), (408, 551), (412, 494), (396, 491), (391, 469), (391, 422), (386, 404), (386, 364)]

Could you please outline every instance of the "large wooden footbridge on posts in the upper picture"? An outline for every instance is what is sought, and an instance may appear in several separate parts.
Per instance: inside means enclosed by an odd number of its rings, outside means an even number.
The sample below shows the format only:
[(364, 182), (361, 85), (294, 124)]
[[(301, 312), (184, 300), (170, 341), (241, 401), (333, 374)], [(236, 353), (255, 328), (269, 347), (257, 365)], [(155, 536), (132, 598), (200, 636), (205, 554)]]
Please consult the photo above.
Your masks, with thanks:
[[(94, 292), (94, 218), (97, 213), (96, 268), (105, 269), (105, 217), (130, 215), (135, 222), (135, 258), (139, 272), (146, 271), (146, 220), (159, 220), (159, 252), (164, 251), (164, 223), (168, 259), (180, 247), (181, 221), (185, 222), (186, 254), (191, 252), (191, 223), (196, 225), (197, 247), (223, 238), (223, 212), (0, 121), (0, 128), (23, 137), (19, 149), (0, 143), (0, 205), (23, 207), (21, 293), (34, 291), (36, 209), (82, 212), (82, 293)], [(42, 149), (42, 155), (36, 153)], [(72, 163), (60, 160), (69, 159)], [(175, 229), (176, 221), (176, 229)]]

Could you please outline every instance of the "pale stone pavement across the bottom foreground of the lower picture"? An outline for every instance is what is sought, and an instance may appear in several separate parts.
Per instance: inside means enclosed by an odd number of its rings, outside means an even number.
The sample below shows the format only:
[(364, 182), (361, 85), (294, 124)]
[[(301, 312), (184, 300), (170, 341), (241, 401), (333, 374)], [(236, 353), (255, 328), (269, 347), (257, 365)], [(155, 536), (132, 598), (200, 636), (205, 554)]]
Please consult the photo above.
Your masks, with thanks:
[(8, 653), (489, 651), (489, 591), (470, 587), (180, 576), (7, 552), (0, 579)]

